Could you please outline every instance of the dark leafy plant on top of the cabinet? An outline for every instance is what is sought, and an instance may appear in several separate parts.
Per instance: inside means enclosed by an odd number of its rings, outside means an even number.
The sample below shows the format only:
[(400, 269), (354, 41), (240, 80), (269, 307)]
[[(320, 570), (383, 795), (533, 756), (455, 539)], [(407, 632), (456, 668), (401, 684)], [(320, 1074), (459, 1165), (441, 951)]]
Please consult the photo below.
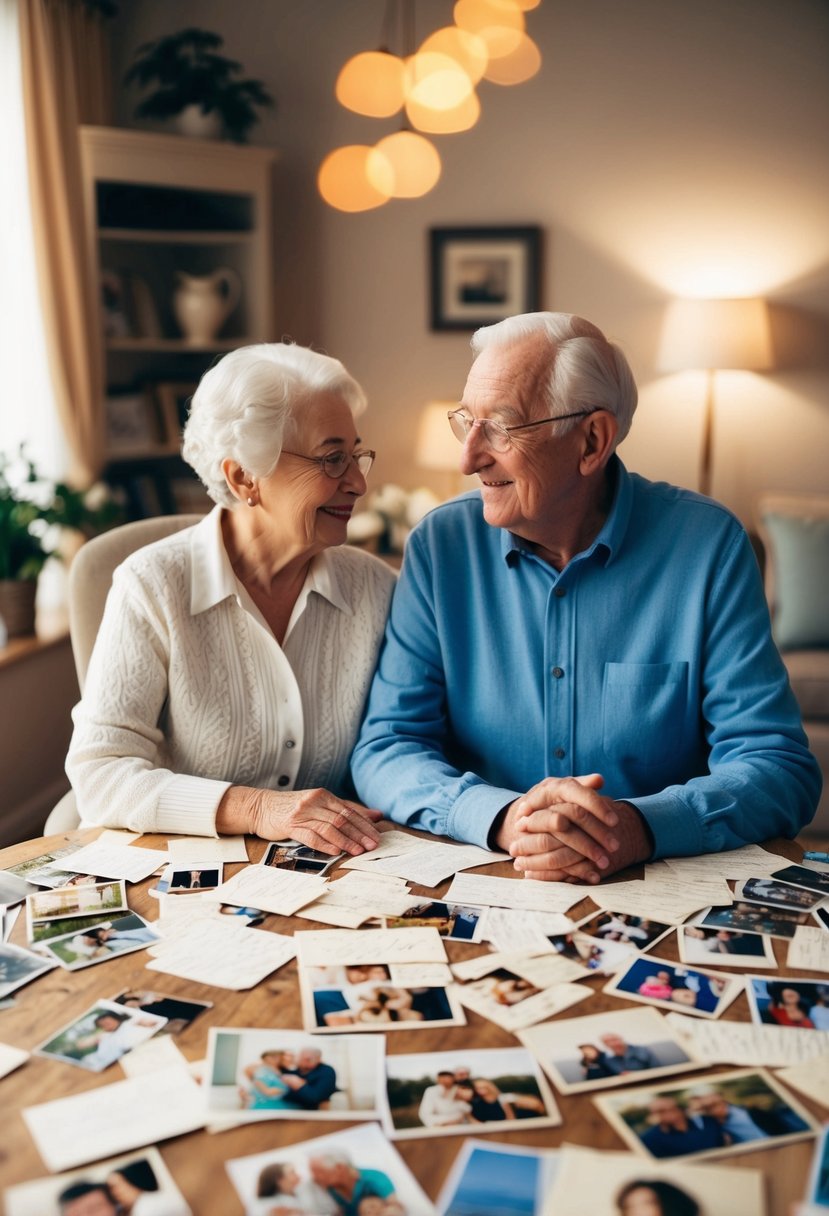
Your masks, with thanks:
[(136, 118), (196, 114), (243, 143), (258, 122), (256, 107), (275, 101), (261, 80), (237, 79), (242, 64), (220, 55), (222, 45), (224, 39), (207, 29), (181, 29), (140, 46), (124, 83), (157, 88), (136, 106)]

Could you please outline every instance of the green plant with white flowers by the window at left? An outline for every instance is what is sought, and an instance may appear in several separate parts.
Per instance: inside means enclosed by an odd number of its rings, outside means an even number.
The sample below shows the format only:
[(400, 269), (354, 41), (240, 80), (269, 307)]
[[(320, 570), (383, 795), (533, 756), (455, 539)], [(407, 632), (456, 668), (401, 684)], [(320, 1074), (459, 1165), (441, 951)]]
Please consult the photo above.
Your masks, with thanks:
[(0, 618), (7, 637), (34, 632), (38, 578), (50, 557), (61, 557), (56, 528), (89, 537), (122, 519), (106, 485), (52, 485), (23, 451), (15, 461), (0, 452)]

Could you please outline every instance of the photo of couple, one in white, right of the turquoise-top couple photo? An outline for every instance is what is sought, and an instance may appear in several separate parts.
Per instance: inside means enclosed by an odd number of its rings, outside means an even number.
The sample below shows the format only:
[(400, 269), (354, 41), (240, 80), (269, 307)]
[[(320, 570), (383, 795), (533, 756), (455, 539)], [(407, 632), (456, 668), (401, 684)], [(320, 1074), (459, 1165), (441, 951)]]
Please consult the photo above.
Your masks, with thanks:
[(554, 1127), (562, 1122), (538, 1064), (525, 1047), (387, 1055), (394, 1139)]

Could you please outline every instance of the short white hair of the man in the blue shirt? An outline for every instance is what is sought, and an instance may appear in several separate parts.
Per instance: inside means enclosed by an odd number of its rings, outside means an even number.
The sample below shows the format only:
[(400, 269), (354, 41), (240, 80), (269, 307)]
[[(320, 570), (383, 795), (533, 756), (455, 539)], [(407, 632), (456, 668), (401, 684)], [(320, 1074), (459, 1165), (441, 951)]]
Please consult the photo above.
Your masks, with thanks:
[[(619, 424), (615, 445), (620, 444), (633, 421), (636, 382), (620, 348), (590, 321), (573, 313), (524, 313), (476, 330), (472, 349), (476, 358), (490, 347), (514, 347), (536, 334), (549, 343), (549, 413), (607, 410)], [(575, 418), (564, 422), (563, 433), (575, 424)]]

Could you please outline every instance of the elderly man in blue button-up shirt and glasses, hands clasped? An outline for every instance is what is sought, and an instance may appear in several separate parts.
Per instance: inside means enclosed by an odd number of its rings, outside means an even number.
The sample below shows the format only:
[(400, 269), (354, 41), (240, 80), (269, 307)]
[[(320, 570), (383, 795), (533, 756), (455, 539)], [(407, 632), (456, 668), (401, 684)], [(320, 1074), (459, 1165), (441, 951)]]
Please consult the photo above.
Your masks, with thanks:
[(820, 775), (745, 531), (627, 472), (636, 385), (594, 325), (511, 317), (473, 350), (450, 423), (480, 491), (408, 539), (360, 796), (542, 879), (795, 835)]

